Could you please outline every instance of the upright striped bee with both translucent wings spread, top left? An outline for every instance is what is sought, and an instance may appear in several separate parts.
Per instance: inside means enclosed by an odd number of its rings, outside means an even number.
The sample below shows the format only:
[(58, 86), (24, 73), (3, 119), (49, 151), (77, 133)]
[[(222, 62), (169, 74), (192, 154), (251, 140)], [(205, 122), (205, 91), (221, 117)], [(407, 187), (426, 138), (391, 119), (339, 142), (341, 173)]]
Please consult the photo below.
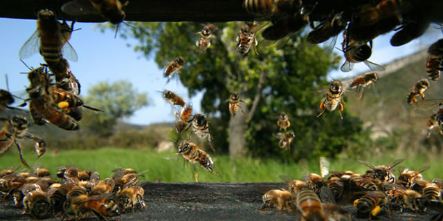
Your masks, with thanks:
[(55, 13), (47, 9), (39, 10), (37, 17), (37, 30), (21, 46), (19, 57), (21, 59), (28, 58), (34, 55), (38, 48), (48, 66), (58, 64), (62, 59), (62, 55), (71, 61), (77, 61), (77, 53), (71, 44), (64, 39), (66, 34), (62, 34), (62, 23), (57, 21)]

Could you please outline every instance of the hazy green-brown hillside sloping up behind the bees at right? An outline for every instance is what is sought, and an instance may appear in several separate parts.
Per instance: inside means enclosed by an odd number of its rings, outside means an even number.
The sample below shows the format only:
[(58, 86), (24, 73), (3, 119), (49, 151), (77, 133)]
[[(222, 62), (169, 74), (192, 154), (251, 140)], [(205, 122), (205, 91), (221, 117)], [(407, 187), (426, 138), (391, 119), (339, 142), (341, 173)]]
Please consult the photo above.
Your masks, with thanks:
[[(416, 81), (426, 75), (426, 50), (386, 64), (386, 71), (379, 73), (379, 80), (372, 88), (365, 89), (363, 99), (358, 99), (354, 89), (346, 92), (346, 104), (351, 113), (359, 115), (365, 127), (372, 129), (371, 137), (393, 136), (403, 146), (422, 146), (426, 139), (426, 121), (437, 111), (435, 106), (430, 111), (415, 109), (406, 103), (406, 97)], [(352, 79), (343, 80), (349, 85)], [(427, 99), (443, 99), (443, 81), (430, 81), (426, 93)], [(437, 133), (437, 131), (435, 131)], [(437, 142), (438, 134), (431, 136), (431, 142)]]

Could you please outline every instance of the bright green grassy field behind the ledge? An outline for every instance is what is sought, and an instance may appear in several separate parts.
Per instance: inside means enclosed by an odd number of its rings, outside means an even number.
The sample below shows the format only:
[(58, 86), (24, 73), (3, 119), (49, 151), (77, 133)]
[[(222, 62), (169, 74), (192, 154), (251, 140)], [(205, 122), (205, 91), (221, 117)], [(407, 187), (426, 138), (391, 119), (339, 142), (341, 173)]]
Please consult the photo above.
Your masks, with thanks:
[[(27, 154), (28, 153), (28, 154)], [(199, 173), (199, 182), (281, 182), (279, 175), (289, 175), (295, 179), (302, 177), (306, 172), (303, 163), (278, 162), (277, 160), (257, 160), (244, 158), (241, 160), (229, 160), (226, 155), (213, 155), (214, 169), (219, 175), (204, 171), (196, 165)], [(28, 164), (36, 162), (50, 169), (55, 174), (56, 168), (66, 164), (72, 164), (81, 169), (93, 169), (98, 171), (101, 177), (109, 177), (112, 169), (117, 167), (129, 167), (138, 172), (146, 171), (145, 180), (154, 182), (195, 182), (192, 165), (185, 162), (183, 157), (174, 152), (156, 153), (153, 149), (122, 149), (122, 148), (99, 148), (91, 151), (60, 151), (57, 155), (46, 153), (38, 161), (36, 155), (31, 155), (30, 150), (24, 155)], [(365, 159), (374, 165), (388, 164), (401, 157), (377, 157), (377, 159)], [(410, 156), (401, 165), (411, 169), (429, 165), (431, 169), (424, 172), (425, 179), (442, 178), (441, 163), (426, 157)], [(21, 164), (17, 151), (12, 149), (0, 156), (0, 169), (6, 169), (12, 165)], [(309, 162), (311, 173), (319, 173), (318, 162)], [(22, 166), (23, 168), (23, 166)], [(331, 171), (356, 171), (365, 173), (367, 166), (357, 160), (332, 160)], [(396, 175), (398, 174), (395, 173)], [(143, 179), (143, 177), (141, 177)]]

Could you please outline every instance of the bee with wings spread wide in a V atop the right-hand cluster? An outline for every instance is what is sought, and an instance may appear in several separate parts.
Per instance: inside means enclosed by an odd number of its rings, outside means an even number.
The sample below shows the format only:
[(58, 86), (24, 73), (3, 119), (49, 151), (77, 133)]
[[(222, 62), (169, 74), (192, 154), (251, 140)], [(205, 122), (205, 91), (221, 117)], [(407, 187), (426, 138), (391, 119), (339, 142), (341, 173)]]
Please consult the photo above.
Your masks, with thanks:
[(391, 184), (395, 183), (395, 175), (391, 171), (392, 168), (403, 161), (404, 159), (397, 159), (391, 162), (388, 166), (385, 165), (374, 166), (370, 164), (370, 162), (359, 160), (361, 164), (364, 164), (370, 168), (370, 170), (367, 171), (366, 174), (363, 175), (363, 177), (377, 178), (381, 182), (389, 182)]

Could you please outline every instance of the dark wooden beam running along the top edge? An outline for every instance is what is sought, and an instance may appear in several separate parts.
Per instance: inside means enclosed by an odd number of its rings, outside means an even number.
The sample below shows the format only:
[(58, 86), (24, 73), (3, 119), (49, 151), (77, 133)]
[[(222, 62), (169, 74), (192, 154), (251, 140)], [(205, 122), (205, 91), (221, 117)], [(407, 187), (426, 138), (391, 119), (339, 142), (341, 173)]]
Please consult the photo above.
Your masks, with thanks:
[[(0, 17), (13, 19), (37, 19), (37, 12), (48, 8), (60, 19), (80, 22), (105, 22), (100, 15), (71, 17), (61, 8), (69, 0), (15, 0), (4, 1)], [(244, 0), (130, 0), (123, 8), (126, 21), (197, 21), (226, 22), (253, 21), (242, 8)]]

